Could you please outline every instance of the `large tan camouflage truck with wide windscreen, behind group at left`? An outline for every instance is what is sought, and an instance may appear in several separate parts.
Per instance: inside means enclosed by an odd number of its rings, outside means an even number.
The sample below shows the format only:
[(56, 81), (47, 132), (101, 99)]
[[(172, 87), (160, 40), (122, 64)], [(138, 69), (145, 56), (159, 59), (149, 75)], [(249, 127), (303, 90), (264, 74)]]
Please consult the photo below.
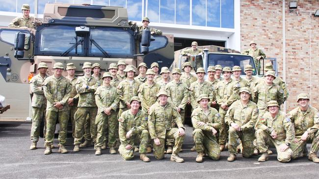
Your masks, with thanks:
[(142, 62), (169, 67), (173, 59), (173, 36), (151, 36), (149, 30), (137, 34), (123, 7), (46, 4), (43, 23), (34, 35), (21, 28), (0, 27), (0, 72), (6, 82), (28, 83), (38, 74), (40, 62), (48, 65), (48, 75), (56, 62), (74, 63), (80, 75), (84, 62), (99, 63), (106, 71), (119, 60), (134, 67)]

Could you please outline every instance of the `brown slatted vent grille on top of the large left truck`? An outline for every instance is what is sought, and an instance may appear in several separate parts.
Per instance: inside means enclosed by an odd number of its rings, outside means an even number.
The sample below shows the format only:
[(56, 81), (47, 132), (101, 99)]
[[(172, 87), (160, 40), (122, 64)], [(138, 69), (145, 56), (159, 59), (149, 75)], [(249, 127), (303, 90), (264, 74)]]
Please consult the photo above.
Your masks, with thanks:
[(64, 17), (112, 19), (115, 16), (113, 9), (91, 9), (77, 7), (58, 7), (57, 12)]

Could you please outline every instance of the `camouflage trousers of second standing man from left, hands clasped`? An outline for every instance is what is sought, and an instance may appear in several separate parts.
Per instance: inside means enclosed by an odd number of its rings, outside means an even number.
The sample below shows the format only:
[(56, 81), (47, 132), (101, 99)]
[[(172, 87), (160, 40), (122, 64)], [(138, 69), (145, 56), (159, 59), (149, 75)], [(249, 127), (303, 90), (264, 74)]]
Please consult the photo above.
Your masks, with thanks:
[(46, 145), (53, 144), (56, 119), (60, 123), (60, 132), (58, 137), (59, 143), (61, 145), (66, 144), (69, 116), (70, 116), (70, 111), (59, 111), (59, 112), (47, 111), (46, 113), (46, 119), (47, 119)]

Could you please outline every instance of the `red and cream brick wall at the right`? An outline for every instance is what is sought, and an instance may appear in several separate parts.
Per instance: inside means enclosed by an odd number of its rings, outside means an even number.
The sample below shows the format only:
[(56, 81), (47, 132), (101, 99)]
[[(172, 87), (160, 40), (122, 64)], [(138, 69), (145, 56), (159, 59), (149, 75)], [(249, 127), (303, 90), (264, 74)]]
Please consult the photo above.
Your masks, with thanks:
[[(297, 106), (301, 92), (311, 95), (311, 105), (319, 109), (319, 17), (310, 17), (319, 9), (317, 0), (298, 0), (296, 12), (285, 4), (287, 111)], [(282, 1), (240, 0), (241, 50), (255, 40), (267, 57), (276, 57), (279, 76), (283, 77)], [(311, 43), (310, 43), (311, 39)]]

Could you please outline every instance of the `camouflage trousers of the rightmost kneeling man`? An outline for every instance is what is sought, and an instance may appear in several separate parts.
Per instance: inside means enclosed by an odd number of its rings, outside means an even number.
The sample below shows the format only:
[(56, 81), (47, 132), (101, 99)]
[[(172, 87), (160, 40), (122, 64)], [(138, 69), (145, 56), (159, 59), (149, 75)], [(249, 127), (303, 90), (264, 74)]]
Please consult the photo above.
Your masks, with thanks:
[(308, 134), (307, 140), (303, 141), (301, 140), (301, 135), (296, 135), (295, 139), (298, 139), (298, 143), (292, 142), (290, 145), (290, 148), (292, 149), (293, 155), (292, 158), (297, 158), (302, 156), (302, 152), (304, 148), (306, 147), (307, 143), (311, 143), (311, 152), (317, 154), (319, 150), (319, 130), (317, 130), (313, 134)]

